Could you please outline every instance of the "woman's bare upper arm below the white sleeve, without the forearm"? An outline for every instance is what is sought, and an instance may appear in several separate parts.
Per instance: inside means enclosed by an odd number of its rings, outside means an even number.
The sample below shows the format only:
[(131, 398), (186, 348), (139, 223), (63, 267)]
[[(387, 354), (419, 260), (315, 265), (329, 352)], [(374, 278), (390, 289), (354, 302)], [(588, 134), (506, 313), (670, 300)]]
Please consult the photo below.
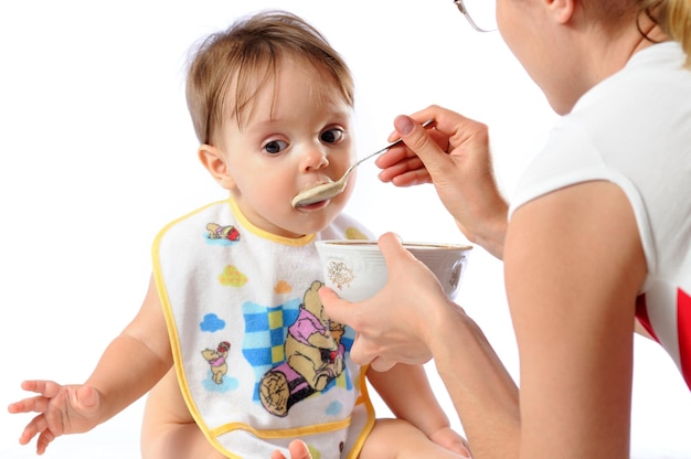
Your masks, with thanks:
[(594, 181), (523, 205), (504, 267), (521, 362), (520, 457), (628, 458), (647, 266), (627, 198)]

